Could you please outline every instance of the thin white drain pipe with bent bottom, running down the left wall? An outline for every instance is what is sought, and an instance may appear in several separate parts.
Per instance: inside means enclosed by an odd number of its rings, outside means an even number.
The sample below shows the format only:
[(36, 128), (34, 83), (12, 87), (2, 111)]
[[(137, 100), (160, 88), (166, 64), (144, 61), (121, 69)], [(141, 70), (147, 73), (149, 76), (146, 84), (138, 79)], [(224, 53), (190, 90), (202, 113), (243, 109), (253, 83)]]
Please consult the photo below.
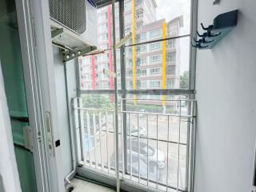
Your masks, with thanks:
[[(66, 178), (64, 178), (64, 182), (67, 184), (70, 184), (70, 176), (72, 174), (75, 174), (76, 170), (76, 159), (74, 154), (74, 132), (72, 129), (71, 119), (70, 119), (70, 102), (69, 102), (69, 91), (67, 86), (67, 71), (66, 71), (66, 62), (64, 63), (64, 76), (65, 76), (65, 86), (66, 86), (66, 108), (67, 108), (67, 115), (68, 115), (68, 121), (69, 121), (69, 130), (70, 130), (70, 150), (71, 150), (71, 159), (72, 159), (72, 170), (70, 174), (66, 175)], [(74, 188), (74, 186), (70, 186), (70, 189)]]

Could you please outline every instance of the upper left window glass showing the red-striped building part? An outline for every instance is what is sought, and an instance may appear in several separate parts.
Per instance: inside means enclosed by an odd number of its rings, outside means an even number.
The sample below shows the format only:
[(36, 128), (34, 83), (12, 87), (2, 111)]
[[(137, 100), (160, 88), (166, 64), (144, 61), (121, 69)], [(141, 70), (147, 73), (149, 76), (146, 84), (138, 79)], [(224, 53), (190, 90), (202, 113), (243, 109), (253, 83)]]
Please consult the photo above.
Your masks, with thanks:
[[(119, 40), (119, 8), (115, 4), (115, 34)], [(114, 78), (104, 74), (103, 70), (114, 71), (112, 6), (97, 10), (98, 15), (98, 50), (101, 54), (89, 55), (78, 59), (81, 90), (114, 90)], [(117, 50), (118, 77), (120, 77), (120, 54)], [(120, 86), (120, 82), (118, 83)]]

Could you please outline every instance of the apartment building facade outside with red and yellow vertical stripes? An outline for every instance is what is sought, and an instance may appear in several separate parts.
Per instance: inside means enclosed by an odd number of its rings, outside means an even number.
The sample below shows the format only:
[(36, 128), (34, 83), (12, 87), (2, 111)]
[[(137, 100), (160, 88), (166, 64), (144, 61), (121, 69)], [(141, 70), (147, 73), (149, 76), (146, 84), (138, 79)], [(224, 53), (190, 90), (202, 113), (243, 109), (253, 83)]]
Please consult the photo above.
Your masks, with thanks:
[[(154, 0), (126, 0), (125, 34), (132, 33), (127, 45), (178, 36), (182, 17), (171, 21), (156, 18)], [(118, 4), (116, 5), (116, 39), (119, 39)], [(103, 74), (103, 69), (114, 70), (112, 47), (111, 6), (98, 10), (98, 47), (103, 54), (79, 59), (82, 90), (114, 89), (114, 78)], [(178, 89), (180, 76), (178, 39), (128, 46), (125, 51), (126, 89)], [(120, 54), (117, 50), (118, 76)], [(121, 88), (118, 78), (118, 88)], [(160, 96), (141, 95), (139, 98), (160, 99)], [(161, 103), (161, 102), (160, 102)]]

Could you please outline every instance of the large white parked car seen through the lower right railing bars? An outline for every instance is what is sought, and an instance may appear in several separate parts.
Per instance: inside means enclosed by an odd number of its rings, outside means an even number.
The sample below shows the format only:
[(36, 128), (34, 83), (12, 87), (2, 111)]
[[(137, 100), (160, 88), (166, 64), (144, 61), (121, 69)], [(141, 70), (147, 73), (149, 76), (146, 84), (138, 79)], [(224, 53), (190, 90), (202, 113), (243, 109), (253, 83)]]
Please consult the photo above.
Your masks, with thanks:
[[(138, 141), (138, 140), (137, 140)], [(162, 152), (162, 150), (154, 149), (152, 146), (147, 146), (145, 142), (139, 142), (139, 150), (138, 150), (138, 142), (135, 139), (127, 142), (127, 154), (131, 154), (133, 156), (139, 156), (139, 158), (147, 163), (149, 166), (158, 166), (159, 169), (163, 169), (166, 166), (166, 154)], [(131, 152), (130, 152), (131, 150)]]

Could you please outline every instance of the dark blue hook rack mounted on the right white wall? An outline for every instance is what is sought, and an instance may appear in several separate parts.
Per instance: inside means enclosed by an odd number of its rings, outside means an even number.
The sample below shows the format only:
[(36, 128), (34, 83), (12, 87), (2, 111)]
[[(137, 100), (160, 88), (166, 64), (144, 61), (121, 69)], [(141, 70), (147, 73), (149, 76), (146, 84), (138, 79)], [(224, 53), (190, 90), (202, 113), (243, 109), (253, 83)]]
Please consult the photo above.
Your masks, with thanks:
[(213, 25), (202, 26), (202, 30), (206, 30), (203, 34), (198, 34), (198, 40), (194, 38), (192, 46), (199, 50), (211, 49), (214, 47), (222, 38), (226, 36), (238, 23), (238, 10), (232, 10), (224, 14), (219, 14), (214, 18)]

